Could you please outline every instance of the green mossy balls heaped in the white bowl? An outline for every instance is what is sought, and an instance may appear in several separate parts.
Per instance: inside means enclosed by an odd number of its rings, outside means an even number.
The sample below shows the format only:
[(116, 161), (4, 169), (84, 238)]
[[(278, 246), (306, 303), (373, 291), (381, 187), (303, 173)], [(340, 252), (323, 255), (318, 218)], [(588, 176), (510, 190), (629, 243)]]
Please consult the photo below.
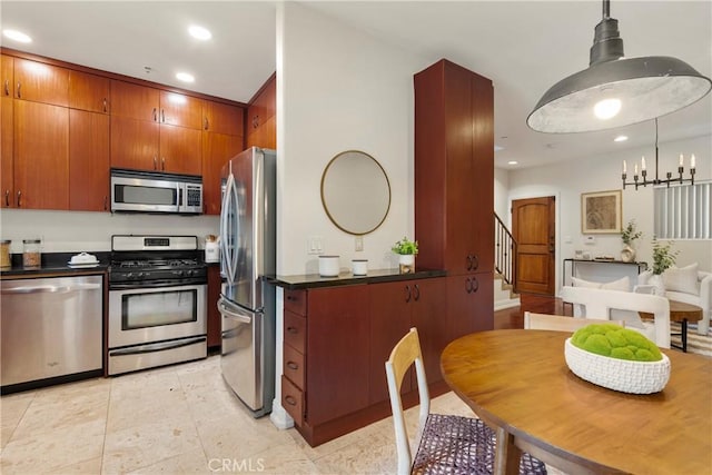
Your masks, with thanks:
[(613, 324), (591, 324), (578, 328), (571, 343), (586, 352), (632, 362), (660, 362), (660, 348), (640, 333)]

